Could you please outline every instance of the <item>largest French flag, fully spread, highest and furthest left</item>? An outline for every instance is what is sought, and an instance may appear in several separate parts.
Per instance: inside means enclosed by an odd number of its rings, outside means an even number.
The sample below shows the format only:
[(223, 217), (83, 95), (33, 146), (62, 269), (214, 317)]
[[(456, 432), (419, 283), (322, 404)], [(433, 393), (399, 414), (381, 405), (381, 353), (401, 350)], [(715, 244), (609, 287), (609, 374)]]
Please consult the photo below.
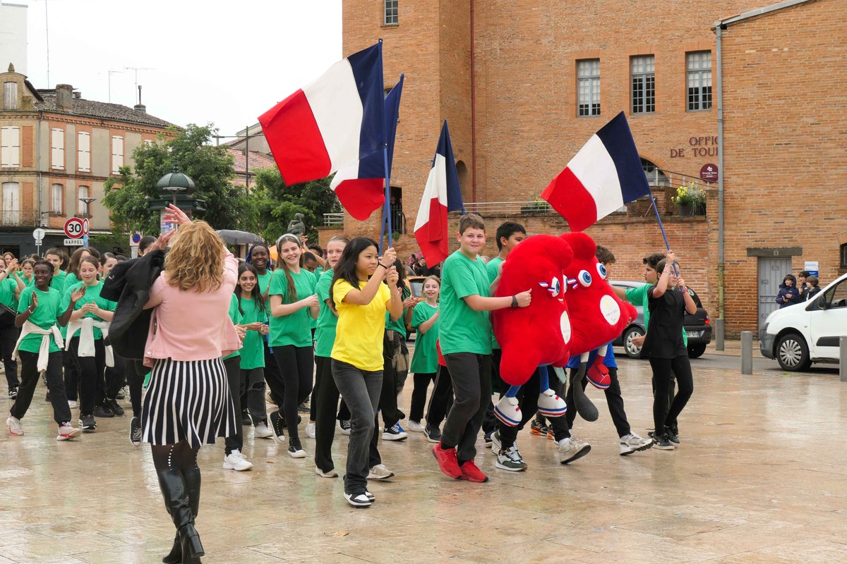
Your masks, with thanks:
[(335, 63), (259, 117), (288, 185), (324, 178), (382, 152), (382, 40)]

